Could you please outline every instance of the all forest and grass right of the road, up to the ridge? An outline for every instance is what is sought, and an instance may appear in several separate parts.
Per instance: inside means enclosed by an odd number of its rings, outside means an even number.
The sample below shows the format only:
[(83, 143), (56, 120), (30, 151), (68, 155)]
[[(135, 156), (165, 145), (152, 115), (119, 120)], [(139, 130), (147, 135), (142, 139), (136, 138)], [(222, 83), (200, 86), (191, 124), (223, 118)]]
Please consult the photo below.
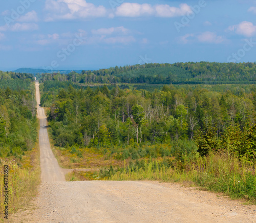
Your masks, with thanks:
[[(67, 180), (194, 182), (256, 199), (255, 63), (144, 64), (40, 76)], [(97, 168), (101, 168), (100, 171)]]

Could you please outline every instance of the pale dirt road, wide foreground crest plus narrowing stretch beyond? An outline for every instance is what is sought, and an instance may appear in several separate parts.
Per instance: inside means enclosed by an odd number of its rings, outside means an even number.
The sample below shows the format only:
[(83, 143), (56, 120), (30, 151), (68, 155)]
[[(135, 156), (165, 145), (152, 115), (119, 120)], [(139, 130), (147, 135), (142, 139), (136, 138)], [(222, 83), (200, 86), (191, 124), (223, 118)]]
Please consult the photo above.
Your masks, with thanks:
[[(42, 137), (47, 135), (45, 116), (40, 108), (38, 114)], [(178, 184), (63, 182), (47, 139), (48, 136), (44, 136), (40, 141), (44, 154), (41, 156), (42, 184), (34, 201), (36, 209), (17, 213), (11, 222), (256, 222), (256, 206), (244, 206), (226, 197)]]

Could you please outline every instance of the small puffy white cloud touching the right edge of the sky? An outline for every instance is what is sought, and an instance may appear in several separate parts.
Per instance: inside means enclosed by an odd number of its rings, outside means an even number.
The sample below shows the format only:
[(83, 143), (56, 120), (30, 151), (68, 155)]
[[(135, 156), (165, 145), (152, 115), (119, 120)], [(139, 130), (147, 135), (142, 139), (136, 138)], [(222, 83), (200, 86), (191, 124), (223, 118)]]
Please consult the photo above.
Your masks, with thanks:
[(256, 33), (256, 26), (250, 21), (242, 21), (242, 23), (228, 27), (229, 31), (234, 31), (239, 35), (251, 37)]

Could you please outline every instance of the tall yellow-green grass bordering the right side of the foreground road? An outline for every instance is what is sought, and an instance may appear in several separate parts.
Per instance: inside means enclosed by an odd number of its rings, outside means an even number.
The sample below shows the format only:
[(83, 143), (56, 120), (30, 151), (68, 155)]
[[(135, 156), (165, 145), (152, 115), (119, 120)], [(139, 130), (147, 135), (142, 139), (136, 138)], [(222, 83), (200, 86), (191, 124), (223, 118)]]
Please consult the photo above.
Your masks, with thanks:
[(239, 160), (229, 153), (210, 154), (205, 158), (198, 156), (190, 161), (173, 160), (169, 165), (163, 161), (144, 160), (143, 165), (130, 163), (112, 173), (105, 179), (190, 181), (210, 191), (223, 192), (232, 198), (256, 202), (255, 166), (246, 159)]

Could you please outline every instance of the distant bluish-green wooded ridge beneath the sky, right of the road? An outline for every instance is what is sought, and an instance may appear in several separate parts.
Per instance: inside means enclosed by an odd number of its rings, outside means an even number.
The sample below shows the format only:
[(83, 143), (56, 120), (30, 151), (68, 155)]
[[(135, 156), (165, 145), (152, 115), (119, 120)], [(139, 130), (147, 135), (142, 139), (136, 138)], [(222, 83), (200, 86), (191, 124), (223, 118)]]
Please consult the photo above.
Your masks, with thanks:
[(42, 81), (71, 81), (80, 84), (247, 84), (256, 83), (256, 63), (149, 63), (116, 66), (97, 71), (42, 74)]

